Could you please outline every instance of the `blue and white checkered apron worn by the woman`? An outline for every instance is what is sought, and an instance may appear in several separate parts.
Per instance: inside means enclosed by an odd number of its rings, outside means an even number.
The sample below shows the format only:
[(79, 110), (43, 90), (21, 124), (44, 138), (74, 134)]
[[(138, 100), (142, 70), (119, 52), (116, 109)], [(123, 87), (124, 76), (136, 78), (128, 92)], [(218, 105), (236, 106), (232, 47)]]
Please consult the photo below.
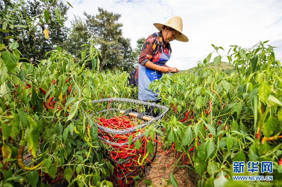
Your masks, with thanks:
[[(162, 50), (162, 46), (161, 46)], [(169, 52), (170, 53), (170, 52)], [(162, 52), (161, 58), (158, 62), (153, 62), (159, 66), (165, 65), (170, 58), (170, 54), (167, 55)], [(151, 89), (149, 90), (149, 84), (154, 80), (159, 80), (162, 76), (162, 72), (152, 70), (145, 66), (139, 64), (138, 70), (138, 99), (141, 101), (156, 101), (158, 94), (153, 92)]]

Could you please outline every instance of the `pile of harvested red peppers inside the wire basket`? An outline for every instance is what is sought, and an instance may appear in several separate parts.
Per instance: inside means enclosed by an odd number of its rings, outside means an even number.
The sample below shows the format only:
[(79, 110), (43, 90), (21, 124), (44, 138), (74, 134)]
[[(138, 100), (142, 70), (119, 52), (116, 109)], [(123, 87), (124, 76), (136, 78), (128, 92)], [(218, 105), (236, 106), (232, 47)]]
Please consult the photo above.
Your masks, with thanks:
[[(136, 126), (134, 123), (134, 117), (131, 116), (117, 116), (110, 119), (98, 118), (97, 122), (109, 129), (121, 130)], [(142, 136), (141, 145), (139, 149), (135, 147), (134, 138), (141, 135), (144, 130), (137, 130), (127, 134), (111, 134), (104, 132), (98, 128), (98, 135), (110, 142), (121, 144), (110, 144), (104, 142), (107, 147), (109, 160), (111, 160), (114, 166), (114, 177), (111, 180), (115, 186), (132, 186), (134, 185), (134, 178), (137, 175), (144, 175), (146, 162), (149, 160), (149, 151), (147, 151), (146, 145), (150, 141), (150, 137)], [(132, 142), (128, 144), (130, 135), (132, 135)], [(131, 138), (131, 137), (130, 137)], [(127, 143), (124, 145), (124, 143)]]

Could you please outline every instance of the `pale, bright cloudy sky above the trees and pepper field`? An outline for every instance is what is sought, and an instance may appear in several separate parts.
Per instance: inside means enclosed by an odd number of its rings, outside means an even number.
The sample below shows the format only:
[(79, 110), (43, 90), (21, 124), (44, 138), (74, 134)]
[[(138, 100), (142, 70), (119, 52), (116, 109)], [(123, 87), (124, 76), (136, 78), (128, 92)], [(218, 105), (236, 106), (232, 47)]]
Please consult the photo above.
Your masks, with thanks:
[(268, 44), (277, 47), (276, 59), (281, 61), (281, 0), (68, 2), (73, 6), (68, 11), (69, 19), (74, 15), (85, 18), (84, 11), (96, 15), (98, 7), (121, 14), (123, 36), (131, 39), (133, 48), (138, 38), (157, 32), (153, 23), (165, 23), (170, 17), (180, 16), (189, 42), (171, 42), (173, 53), (167, 64), (181, 70), (203, 61), (213, 51), (211, 44), (222, 46), (225, 51), (221, 55), (227, 55), (230, 45), (251, 48), (259, 41), (270, 40)]

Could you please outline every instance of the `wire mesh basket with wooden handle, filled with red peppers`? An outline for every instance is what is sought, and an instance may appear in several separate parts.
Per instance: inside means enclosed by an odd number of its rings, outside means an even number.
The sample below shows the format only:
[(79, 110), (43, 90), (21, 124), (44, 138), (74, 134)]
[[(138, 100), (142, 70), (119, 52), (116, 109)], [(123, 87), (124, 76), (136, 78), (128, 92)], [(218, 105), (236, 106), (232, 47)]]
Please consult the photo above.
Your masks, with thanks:
[(146, 149), (147, 143), (153, 145), (150, 136), (144, 136), (144, 128), (148, 125), (157, 128), (168, 107), (125, 98), (100, 99), (91, 104), (95, 112), (88, 120), (97, 125), (98, 138), (114, 165), (111, 180), (117, 186), (133, 185), (133, 178), (142, 175), (147, 161), (154, 157)]

